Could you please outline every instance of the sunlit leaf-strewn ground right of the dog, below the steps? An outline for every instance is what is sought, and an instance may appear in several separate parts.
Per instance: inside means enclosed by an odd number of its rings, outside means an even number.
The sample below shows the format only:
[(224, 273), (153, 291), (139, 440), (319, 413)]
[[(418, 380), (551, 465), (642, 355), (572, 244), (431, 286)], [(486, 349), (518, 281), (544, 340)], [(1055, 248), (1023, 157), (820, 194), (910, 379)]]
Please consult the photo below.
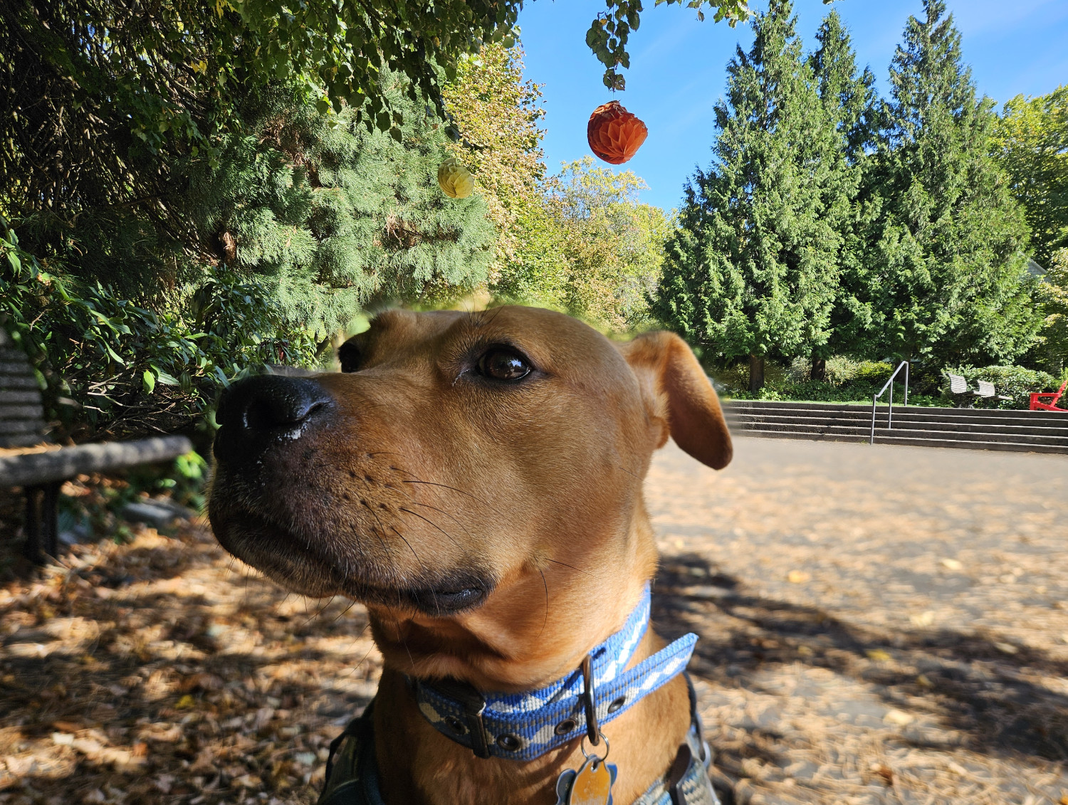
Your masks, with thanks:
[(1068, 458), (742, 438), (648, 500), (736, 801), (1068, 803)]

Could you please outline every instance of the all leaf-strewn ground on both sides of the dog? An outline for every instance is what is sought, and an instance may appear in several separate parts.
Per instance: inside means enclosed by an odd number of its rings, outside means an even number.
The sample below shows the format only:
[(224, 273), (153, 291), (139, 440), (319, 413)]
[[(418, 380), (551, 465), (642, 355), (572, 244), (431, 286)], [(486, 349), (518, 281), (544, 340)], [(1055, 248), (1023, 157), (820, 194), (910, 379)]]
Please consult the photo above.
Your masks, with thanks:
[[(660, 631), (736, 802), (1068, 803), (1068, 460), (743, 439), (648, 485)], [(0, 803), (307, 803), (373, 695), (361, 607), (202, 526), (0, 588)]]

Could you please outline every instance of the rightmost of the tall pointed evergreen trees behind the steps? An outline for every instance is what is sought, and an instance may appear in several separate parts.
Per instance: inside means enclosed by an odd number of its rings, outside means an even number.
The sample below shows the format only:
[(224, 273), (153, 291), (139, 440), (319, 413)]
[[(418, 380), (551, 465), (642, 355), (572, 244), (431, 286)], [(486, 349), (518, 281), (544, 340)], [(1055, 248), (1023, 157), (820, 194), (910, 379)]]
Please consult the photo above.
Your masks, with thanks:
[(910, 17), (866, 174), (867, 348), (961, 364), (1011, 359), (1038, 327), (1027, 228), (989, 156), (994, 115), (961, 61), (942, 0)]

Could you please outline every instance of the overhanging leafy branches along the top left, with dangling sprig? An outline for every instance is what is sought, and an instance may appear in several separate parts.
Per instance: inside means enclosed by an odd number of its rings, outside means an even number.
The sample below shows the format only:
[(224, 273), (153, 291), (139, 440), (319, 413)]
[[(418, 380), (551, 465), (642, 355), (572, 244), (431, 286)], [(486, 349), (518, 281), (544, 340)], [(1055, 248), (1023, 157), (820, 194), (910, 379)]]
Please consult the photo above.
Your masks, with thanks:
[[(668, 0), (679, 2), (680, 0)], [(708, 2), (732, 25), (744, 0)], [(414, 113), (447, 119), (442, 88), (465, 57), (511, 47), (522, 0), (12, 0), (0, 4), (0, 212), (45, 219), (50, 248), (85, 210), (139, 205), (178, 240), (191, 233), (160, 196), (173, 159), (217, 156), (248, 93), (294, 86), (320, 113), (352, 110), (395, 140)], [(609, 0), (587, 41), (615, 76), (629, 65), (637, 0)], [(381, 81), (405, 78), (399, 106)], [(622, 77), (610, 85), (622, 89)], [(424, 104), (428, 105), (424, 108)], [(458, 130), (450, 124), (450, 131)], [(59, 219), (51, 221), (50, 219)], [(36, 250), (44, 254), (43, 251)]]

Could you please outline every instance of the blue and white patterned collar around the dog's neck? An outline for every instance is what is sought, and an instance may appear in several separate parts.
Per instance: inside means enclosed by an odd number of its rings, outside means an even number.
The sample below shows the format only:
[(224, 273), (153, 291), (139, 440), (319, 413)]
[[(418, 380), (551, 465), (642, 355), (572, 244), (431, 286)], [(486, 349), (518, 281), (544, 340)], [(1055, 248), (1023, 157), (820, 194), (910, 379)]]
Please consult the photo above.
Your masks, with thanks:
[[(598, 724), (623, 715), (686, 669), (697, 641), (693, 633), (624, 670), (648, 625), (646, 584), (623, 629), (590, 652)], [(423, 717), (481, 757), (532, 760), (586, 733), (580, 669), (524, 693), (480, 693), (454, 680), (411, 680), (411, 684)]]

